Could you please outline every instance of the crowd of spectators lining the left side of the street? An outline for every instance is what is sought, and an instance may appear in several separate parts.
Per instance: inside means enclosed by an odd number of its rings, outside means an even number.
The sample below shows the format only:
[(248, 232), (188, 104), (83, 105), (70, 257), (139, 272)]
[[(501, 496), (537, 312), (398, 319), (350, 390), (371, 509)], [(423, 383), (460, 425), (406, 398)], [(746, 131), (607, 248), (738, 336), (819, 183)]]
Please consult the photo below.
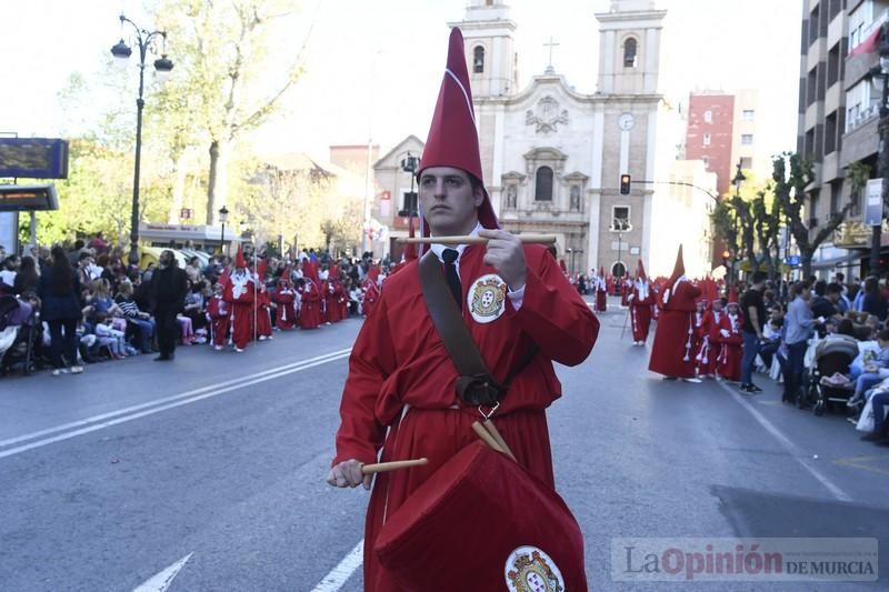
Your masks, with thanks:
[[(249, 245), (248, 260), (264, 259), (261, 281), (274, 290), (284, 270), (290, 280), (302, 282), (302, 265), (312, 261), (327, 279), (334, 269), (337, 280), (349, 299), (350, 314), (361, 314), (363, 294), (372, 254), (361, 259), (334, 259), (324, 250), (309, 249), (292, 258), (254, 254)], [(252, 262), (252, 261), (251, 261)], [(388, 263), (386, 261), (384, 263)], [(231, 258), (191, 257), (184, 272), (188, 291), (177, 317), (182, 344), (209, 343), (207, 304)], [(151, 279), (157, 265), (141, 270), (127, 263), (120, 248), (110, 247), (99, 234), (89, 243), (78, 240), (70, 245), (37, 249), (33, 254), (6, 254), (0, 248), (0, 372), (6, 373), (17, 350), (31, 345), (30, 369), (48, 367), (54, 375), (83, 372), (83, 364), (120, 360), (158, 351)], [(382, 268), (374, 280), (386, 277)], [(376, 274), (371, 274), (376, 275)], [(271, 303), (274, 323), (276, 303)]]

